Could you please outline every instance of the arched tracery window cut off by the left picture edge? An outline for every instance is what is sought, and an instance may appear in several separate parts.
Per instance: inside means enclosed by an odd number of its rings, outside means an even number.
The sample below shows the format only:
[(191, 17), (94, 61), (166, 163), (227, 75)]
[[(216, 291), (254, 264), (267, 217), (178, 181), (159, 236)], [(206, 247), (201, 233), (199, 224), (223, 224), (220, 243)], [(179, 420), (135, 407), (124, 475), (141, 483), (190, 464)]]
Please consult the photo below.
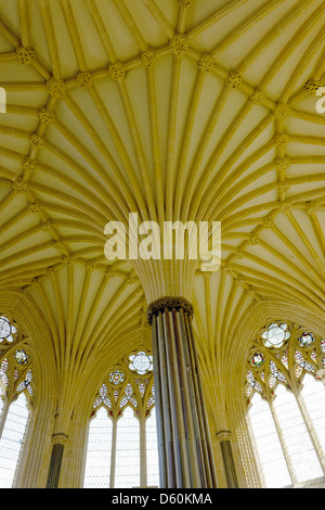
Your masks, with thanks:
[(0, 487), (15, 484), (34, 395), (32, 355), (12, 318), (0, 315)]

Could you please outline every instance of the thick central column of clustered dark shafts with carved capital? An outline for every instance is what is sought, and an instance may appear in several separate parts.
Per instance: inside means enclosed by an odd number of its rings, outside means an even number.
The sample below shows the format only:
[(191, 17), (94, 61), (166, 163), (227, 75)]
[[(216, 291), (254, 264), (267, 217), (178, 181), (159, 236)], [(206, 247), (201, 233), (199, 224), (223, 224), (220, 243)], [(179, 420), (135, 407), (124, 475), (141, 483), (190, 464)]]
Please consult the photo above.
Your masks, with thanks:
[(182, 297), (164, 297), (148, 307), (165, 488), (217, 487), (192, 316), (191, 304)]

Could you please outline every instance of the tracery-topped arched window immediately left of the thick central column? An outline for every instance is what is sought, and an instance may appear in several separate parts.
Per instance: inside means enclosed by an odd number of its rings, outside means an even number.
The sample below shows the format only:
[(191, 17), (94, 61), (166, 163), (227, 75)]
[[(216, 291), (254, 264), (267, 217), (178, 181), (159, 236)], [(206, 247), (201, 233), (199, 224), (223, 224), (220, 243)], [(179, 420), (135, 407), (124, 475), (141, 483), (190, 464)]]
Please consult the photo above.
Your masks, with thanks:
[(95, 397), (84, 488), (158, 486), (154, 406), (152, 355), (131, 353), (109, 371)]

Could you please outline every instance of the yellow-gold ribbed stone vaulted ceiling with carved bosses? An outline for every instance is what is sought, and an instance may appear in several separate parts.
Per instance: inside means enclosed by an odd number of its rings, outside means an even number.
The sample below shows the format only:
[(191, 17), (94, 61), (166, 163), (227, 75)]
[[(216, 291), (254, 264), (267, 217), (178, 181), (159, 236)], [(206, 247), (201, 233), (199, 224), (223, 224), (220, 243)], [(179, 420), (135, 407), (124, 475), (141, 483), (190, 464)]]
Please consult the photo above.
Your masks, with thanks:
[(0, 302), (42, 317), (57, 367), (145, 323), (134, 268), (104, 256), (129, 212), (222, 221), (222, 269), (192, 295), (210, 369), (255, 303), (324, 315), (324, 0), (0, 0)]

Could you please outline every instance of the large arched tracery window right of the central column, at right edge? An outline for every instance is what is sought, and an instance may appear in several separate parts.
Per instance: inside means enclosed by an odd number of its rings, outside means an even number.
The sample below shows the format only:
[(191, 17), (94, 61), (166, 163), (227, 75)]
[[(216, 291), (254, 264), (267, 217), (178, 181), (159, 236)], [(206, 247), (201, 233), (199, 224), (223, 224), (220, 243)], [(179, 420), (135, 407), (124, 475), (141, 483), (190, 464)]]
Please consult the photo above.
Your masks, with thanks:
[(246, 398), (265, 487), (325, 482), (325, 343), (301, 326), (273, 321), (247, 360)]

